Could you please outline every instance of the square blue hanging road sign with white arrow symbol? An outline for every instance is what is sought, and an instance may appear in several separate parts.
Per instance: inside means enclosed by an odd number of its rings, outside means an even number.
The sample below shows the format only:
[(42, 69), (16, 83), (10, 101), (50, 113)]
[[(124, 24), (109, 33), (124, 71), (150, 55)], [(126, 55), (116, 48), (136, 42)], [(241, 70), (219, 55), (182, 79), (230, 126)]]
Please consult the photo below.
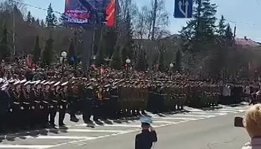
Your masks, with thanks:
[(175, 0), (174, 18), (192, 18), (193, 0)]

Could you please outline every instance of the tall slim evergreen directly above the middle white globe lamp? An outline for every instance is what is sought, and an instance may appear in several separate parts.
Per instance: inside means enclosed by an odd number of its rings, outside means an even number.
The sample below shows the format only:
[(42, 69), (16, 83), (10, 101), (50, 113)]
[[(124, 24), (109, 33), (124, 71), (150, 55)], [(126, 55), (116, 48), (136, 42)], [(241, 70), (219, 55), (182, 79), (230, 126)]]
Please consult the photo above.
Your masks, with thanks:
[(126, 26), (126, 35), (122, 57), (123, 60), (126, 60), (127, 58), (133, 59), (133, 27), (129, 11), (126, 14), (126, 20), (124, 25)]

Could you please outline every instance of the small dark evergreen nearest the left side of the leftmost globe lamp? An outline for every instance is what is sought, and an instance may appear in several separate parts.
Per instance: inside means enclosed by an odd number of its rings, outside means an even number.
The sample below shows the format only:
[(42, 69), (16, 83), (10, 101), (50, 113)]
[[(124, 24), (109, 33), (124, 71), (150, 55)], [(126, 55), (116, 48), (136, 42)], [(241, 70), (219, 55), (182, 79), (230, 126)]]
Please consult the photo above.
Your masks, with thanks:
[(50, 65), (52, 63), (52, 38), (48, 38), (45, 43), (45, 50), (43, 50), (43, 62), (45, 65)]

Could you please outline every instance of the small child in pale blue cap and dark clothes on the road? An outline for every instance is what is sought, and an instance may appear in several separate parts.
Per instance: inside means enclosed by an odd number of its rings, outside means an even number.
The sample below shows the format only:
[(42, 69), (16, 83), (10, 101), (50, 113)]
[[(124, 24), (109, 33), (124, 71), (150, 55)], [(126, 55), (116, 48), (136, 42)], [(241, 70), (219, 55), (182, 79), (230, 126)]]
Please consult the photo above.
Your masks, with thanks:
[(142, 132), (135, 137), (135, 149), (151, 149), (153, 143), (157, 142), (157, 133), (151, 126), (152, 119), (140, 118)]

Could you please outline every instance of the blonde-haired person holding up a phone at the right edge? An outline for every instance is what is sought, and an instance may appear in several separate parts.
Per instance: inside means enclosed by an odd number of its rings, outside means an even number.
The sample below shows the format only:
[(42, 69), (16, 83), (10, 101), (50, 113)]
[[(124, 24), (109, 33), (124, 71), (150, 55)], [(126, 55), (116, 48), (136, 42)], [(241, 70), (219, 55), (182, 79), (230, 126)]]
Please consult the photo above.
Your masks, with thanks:
[(251, 106), (244, 118), (235, 117), (235, 126), (244, 127), (251, 138), (242, 149), (261, 149), (261, 104)]

